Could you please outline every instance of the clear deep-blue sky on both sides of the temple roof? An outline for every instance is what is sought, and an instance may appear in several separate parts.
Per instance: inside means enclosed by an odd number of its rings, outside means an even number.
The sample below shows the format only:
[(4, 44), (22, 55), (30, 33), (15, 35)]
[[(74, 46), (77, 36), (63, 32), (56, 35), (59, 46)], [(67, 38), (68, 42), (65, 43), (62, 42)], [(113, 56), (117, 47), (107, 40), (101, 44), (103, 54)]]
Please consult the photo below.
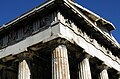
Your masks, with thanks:
[[(0, 25), (20, 16), (46, 0), (0, 0)], [(75, 0), (80, 5), (112, 22), (113, 36), (120, 43), (120, 0)]]

